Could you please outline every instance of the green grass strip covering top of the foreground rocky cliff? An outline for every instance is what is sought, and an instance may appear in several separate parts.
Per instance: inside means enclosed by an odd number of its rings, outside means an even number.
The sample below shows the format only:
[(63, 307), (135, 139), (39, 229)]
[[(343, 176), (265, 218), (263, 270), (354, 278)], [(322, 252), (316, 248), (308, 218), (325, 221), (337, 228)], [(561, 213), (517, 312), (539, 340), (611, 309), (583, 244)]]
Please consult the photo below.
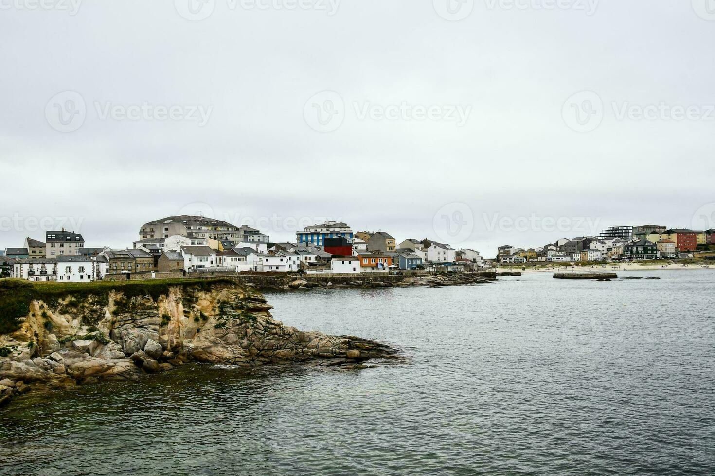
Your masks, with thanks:
[(29, 313), (29, 305), (33, 299), (52, 303), (69, 295), (79, 300), (94, 296), (103, 303), (109, 303), (109, 293), (116, 290), (123, 293), (125, 298), (148, 295), (157, 300), (160, 295), (167, 294), (171, 286), (208, 290), (215, 284), (235, 285), (236, 283), (228, 278), (175, 278), (93, 283), (57, 283), (56, 281), (34, 283), (20, 279), (0, 279), (0, 334), (19, 329), (20, 318)]

